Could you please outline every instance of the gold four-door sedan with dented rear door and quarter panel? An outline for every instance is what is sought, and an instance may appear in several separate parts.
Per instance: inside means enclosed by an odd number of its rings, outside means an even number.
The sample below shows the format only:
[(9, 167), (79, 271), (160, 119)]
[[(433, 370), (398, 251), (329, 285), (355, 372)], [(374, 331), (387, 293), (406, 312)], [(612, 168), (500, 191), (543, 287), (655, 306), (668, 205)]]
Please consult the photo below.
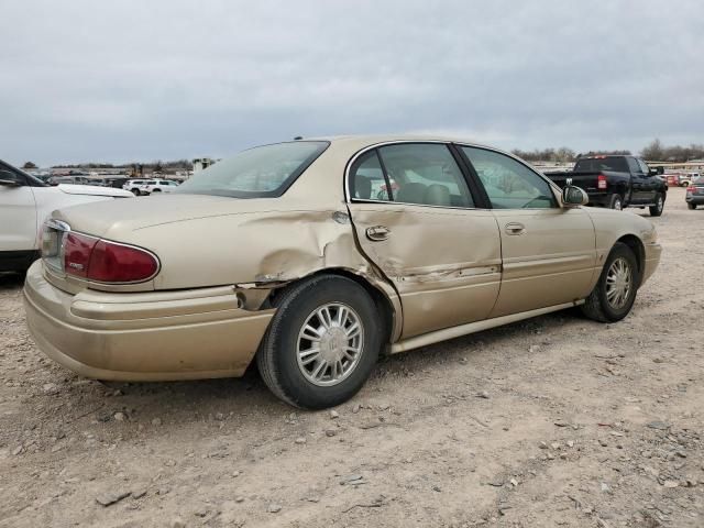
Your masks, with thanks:
[(89, 377), (240, 376), (352, 397), (380, 354), (581, 306), (626, 317), (660, 245), (510, 154), (438, 138), (244, 151), (168, 196), (55, 211), (28, 273), (38, 346)]

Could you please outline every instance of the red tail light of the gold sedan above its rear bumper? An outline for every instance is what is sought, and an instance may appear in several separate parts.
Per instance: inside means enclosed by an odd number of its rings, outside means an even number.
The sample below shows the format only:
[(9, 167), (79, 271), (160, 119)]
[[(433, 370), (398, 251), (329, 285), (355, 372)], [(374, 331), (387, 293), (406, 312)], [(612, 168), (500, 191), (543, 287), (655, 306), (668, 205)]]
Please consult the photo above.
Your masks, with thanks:
[(100, 283), (139, 283), (156, 275), (158, 260), (140, 248), (70, 232), (64, 242), (64, 270)]

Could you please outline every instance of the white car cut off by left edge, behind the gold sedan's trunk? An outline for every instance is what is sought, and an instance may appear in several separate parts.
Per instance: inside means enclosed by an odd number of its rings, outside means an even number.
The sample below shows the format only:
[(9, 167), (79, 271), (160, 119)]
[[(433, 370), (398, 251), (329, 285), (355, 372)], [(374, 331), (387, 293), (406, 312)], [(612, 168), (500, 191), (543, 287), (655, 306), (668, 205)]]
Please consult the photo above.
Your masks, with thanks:
[(54, 209), (131, 196), (107, 187), (48, 186), (0, 161), (0, 271), (22, 272), (37, 258), (38, 234)]

